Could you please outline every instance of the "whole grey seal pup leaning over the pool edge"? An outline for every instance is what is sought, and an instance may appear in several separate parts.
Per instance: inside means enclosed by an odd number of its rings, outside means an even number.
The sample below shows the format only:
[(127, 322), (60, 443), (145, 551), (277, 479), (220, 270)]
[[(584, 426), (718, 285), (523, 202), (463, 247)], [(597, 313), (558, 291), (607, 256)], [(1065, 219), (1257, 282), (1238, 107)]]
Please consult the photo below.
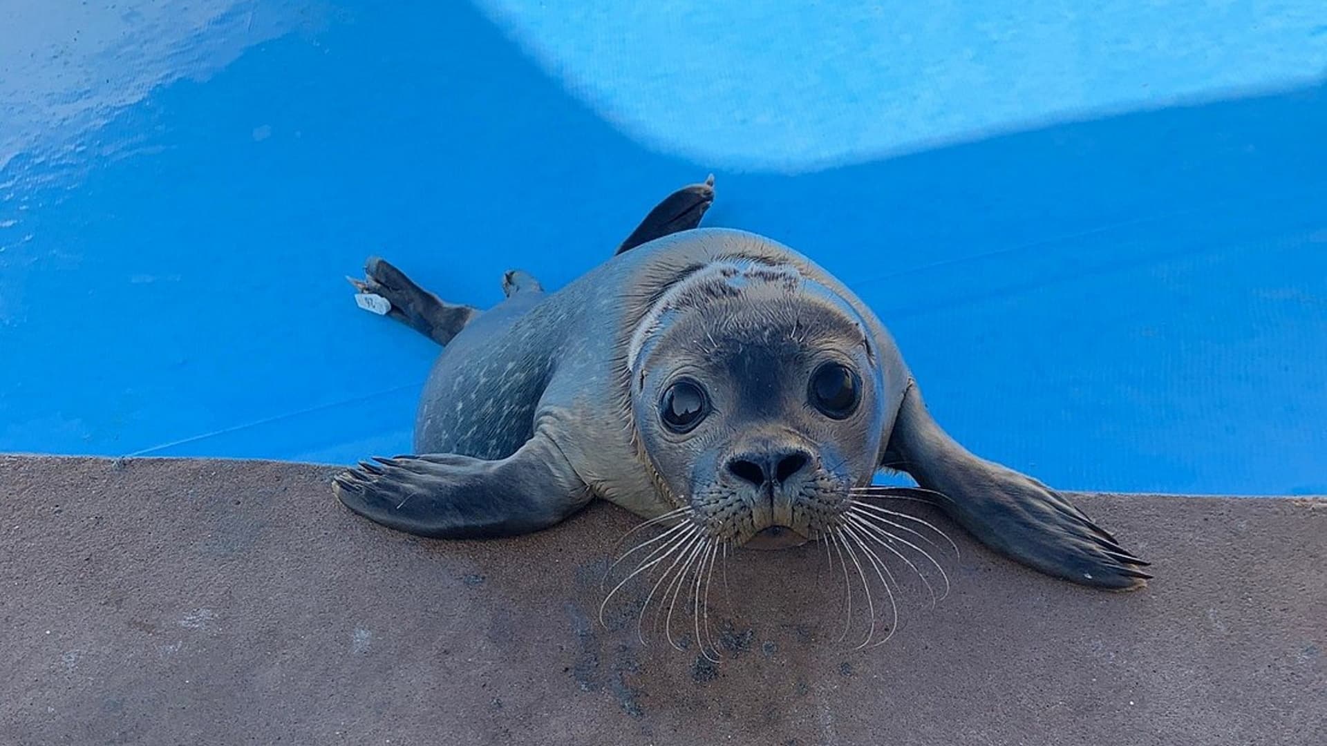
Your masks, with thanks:
[(669, 195), (557, 292), (508, 272), (507, 299), (483, 312), (370, 259), (356, 288), (446, 348), (414, 455), (345, 470), (337, 498), (437, 538), (532, 532), (605, 499), (670, 526), (650, 556), (682, 567), (824, 540), (871, 568), (872, 519), (897, 514), (861, 498), (909, 494), (872, 486), (901, 470), (913, 496), (1007, 558), (1091, 587), (1145, 584), (1148, 563), (1063, 495), (946, 434), (848, 287), (775, 240), (699, 227), (713, 183)]

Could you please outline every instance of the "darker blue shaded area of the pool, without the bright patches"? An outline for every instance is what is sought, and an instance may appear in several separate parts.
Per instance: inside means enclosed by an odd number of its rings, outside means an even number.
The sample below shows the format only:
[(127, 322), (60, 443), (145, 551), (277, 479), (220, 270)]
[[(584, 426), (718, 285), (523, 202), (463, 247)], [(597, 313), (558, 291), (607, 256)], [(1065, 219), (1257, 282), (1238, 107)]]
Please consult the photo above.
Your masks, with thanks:
[(467, 5), (364, 11), (158, 90), (77, 177), (0, 174), (0, 451), (409, 450), (437, 349), (342, 275), (559, 287), (715, 170), (706, 224), (844, 279), (982, 455), (1064, 488), (1327, 492), (1323, 131), (1318, 85), (734, 174), (624, 138)]

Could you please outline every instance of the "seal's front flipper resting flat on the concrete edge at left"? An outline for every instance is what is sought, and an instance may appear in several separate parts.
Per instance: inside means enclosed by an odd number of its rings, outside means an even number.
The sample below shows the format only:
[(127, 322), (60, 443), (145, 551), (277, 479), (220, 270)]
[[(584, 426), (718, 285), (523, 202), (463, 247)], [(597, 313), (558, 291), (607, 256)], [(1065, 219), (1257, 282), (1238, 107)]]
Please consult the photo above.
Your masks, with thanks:
[(591, 499), (561, 450), (537, 433), (500, 461), (454, 454), (376, 461), (338, 474), (333, 492), (354, 512), (421, 536), (529, 534), (559, 523)]

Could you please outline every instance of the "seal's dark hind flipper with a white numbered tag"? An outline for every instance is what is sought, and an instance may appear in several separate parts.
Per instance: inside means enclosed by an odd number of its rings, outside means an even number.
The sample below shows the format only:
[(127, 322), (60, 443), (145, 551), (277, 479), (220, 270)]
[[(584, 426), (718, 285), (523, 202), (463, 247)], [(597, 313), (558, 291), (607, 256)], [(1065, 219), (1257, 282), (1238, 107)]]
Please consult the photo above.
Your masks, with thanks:
[(360, 291), (356, 300), (361, 308), (395, 319), (441, 345), (450, 342), (479, 315), (478, 308), (443, 303), (377, 256), (365, 261), (362, 280), (348, 279)]

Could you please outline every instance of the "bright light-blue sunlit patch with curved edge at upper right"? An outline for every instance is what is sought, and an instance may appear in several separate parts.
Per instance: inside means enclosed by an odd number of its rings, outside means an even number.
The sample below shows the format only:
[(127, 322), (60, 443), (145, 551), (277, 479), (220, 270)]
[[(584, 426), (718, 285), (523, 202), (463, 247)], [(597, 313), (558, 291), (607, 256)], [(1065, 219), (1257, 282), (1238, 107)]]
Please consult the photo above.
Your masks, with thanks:
[(1319, 0), (478, 4), (601, 117), (722, 169), (861, 163), (1327, 70)]

